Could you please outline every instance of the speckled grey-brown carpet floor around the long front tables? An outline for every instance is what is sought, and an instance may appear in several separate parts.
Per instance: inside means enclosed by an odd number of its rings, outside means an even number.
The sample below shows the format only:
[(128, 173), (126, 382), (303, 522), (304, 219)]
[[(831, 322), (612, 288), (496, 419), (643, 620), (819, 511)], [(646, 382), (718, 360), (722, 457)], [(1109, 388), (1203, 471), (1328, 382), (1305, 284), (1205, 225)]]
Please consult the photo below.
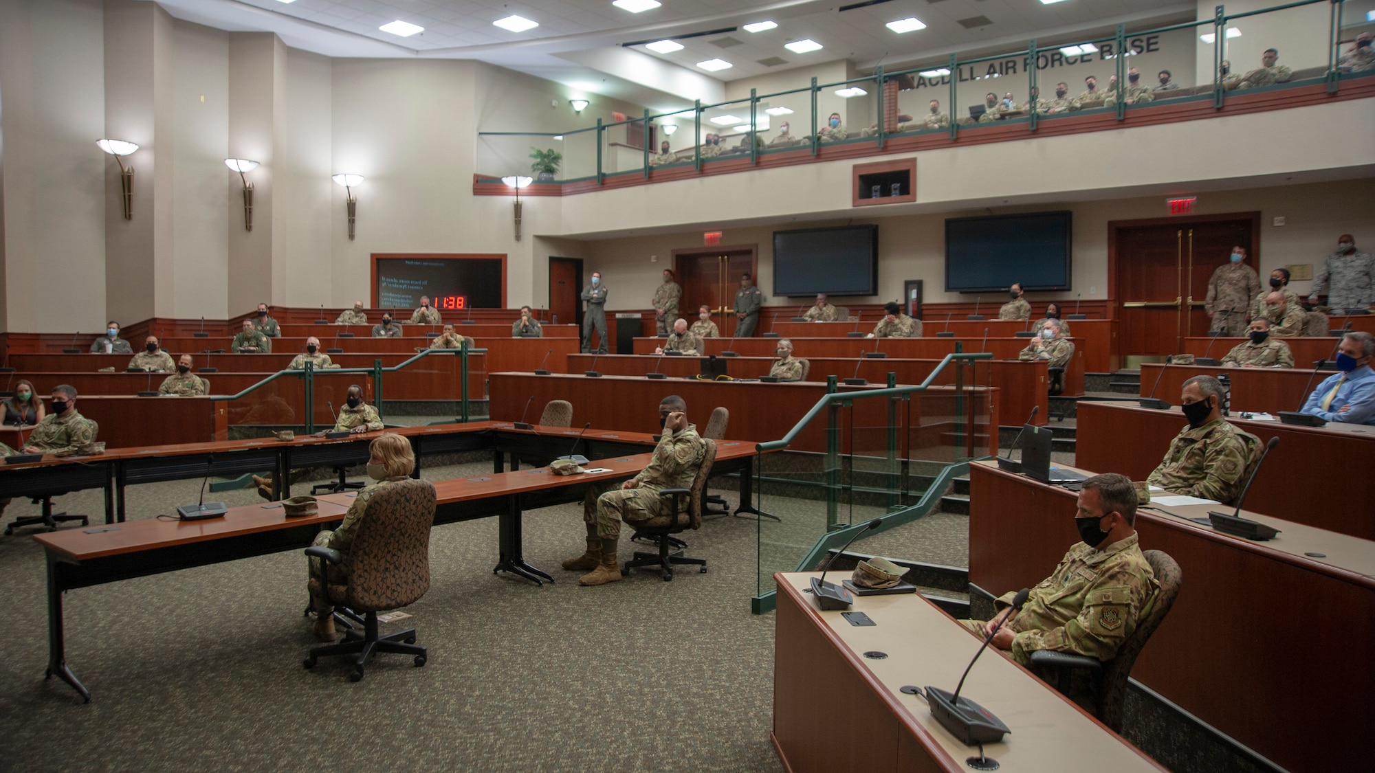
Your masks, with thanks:
[[(425, 477), (487, 469), (430, 468)], [(198, 488), (195, 480), (131, 487), (129, 512), (168, 513)], [(214, 498), (257, 501), (252, 490)], [(58, 503), (102, 512), (95, 492)], [(769, 509), (786, 523), (766, 524), (766, 534), (824, 519), (818, 506), (773, 497)], [(36, 510), (15, 502), (6, 520)], [(300, 553), (73, 590), (67, 660), (94, 692), (89, 706), (43, 679), (38, 545), (29, 530), (0, 538), (11, 615), (0, 769), (781, 769), (769, 743), (773, 616), (749, 613), (759, 580), (754, 520), (716, 519), (688, 535), (689, 554), (711, 561), (708, 574), (681, 568), (666, 583), (644, 572), (594, 589), (558, 568), (583, 547), (580, 506), (528, 513), (524, 525), (527, 558), (556, 585), (491, 574), (495, 519), (437, 527), (429, 593), (406, 609), (414, 618), (382, 626), (417, 627), (428, 664), (381, 656), (358, 684), (341, 660), (301, 667), (315, 641), (301, 616)], [(861, 546), (965, 565), (965, 542), (962, 516), (932, 516)], [(632, 549), (623, 542), (622, 560)]]

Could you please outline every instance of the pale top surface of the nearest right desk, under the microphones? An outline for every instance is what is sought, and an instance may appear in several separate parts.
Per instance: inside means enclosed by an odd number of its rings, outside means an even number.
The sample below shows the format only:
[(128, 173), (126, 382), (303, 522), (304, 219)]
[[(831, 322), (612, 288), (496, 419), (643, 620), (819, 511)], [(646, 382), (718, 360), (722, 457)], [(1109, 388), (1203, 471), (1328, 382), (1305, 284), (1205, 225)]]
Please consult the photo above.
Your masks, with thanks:
[[(817, 572), (778, 572), (780, 596), (806, 609), (813, 622), (868, 677), (881, 699), (932, 754), (945, 752), (947, 770), (967, 769), (978, 755), (932, 715), (924, 697), (899, 692), (903, 685), (954, 689), (982, 641), (918, 594), (861, 596), (852, 609), (874, 626), (851, 626), (840, 611), (822, 612), (803, 594)], [(839, 580), (839, 578), (836, 578)], [(864, 652), (886, 652), (873, 660)], [(984, 747), (984, 754), (1005, 770), (1163, 770), (1140, 750), (1106, 729), (1075, 704), (1055, 692), (997, 651), (984, 652), (969, 671), (961, 696), (994, 712), (1012, 733)], [(844, 718), (839, 722), (844, 723)]]

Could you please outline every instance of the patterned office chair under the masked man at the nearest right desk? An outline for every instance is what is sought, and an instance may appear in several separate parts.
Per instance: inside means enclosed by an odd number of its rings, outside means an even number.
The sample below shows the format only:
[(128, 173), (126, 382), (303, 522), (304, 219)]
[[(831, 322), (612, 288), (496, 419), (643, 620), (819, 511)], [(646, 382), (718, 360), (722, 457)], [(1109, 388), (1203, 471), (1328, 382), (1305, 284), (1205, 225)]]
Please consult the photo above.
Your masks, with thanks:
[[(1116, 733), (1122, 732), (1122, 704), (1126, 700), (1126, 681), (1132, 675), (1132, 664), (1136, 663), (1136, 656), (1141, 653), (1155, 629), (1160, 627), (1160, 622), (1174, 605), (1180, 586), (1184, 583), (1180, 564), (1167, 553), (1145, 550), (1141, 554), (1151, 564), (1151, 571), (1155, 572), (1155, 582), (1160, 583), (1160, 590), (1147, 604), (1147, 611), (1137, 622), (1136, 630), (1118, 648), (1116, 657), (1097, 660), (1049, 649), (1038, 649), (1031, 653), (1031, 667), (1037, 675), (1048, 682), (1050, 679), (1046, 675), (1053, 675), (1055, 689), (1081, 706), (1088, 703), (1084, 707)], [(1088, 696), (1075, 695), (1072, 677), (1077, 670), (1089, 674)]]

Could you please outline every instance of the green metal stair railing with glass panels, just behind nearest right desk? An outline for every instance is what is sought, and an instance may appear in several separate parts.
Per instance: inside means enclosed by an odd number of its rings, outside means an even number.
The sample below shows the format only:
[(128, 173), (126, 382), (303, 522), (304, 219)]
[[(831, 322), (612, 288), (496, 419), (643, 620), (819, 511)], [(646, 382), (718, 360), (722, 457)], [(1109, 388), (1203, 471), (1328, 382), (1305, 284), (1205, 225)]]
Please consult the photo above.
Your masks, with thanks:
[[(826, 395), (807, 411), (802, 420), (778, 440), (755, 446), (755, 503), (759, 513), (756, 531), (756, 587), (751, 600), (755, 613), (773, 609), (776, 589), (771, 587), (774, 571), (807, 571), (817, 565), (828, 550), (843, 545), (854, 536), (851, 525), (855, 514), (855, 498), (868, 495), (869, 505), (879, 512), (881, 525), (869, 536), (890, 531), (898, 525), (924, 517), (945, 491), (950, 479), (968, 470), (971, 459), (986, 458), (979, 448), (989, 450), (987, 442), (976, 442), (979, 420), (986, 433), (997, 432), (987, 421), (989, 392), (975, 385), (978, 378), (972, 370), (980, 360), (991, 360), (987, 352), (950, 353), (921, 381), (910, 386), (898, 386), (895, 375), (888, 374), (888, 385), (879, 389), (839, 392), (836, 377), (826, 380)], [(947, 370), (953, 371), (947, 374)], [(953, 375), (953, 384), (936, 386), (936, 381)], [(913, 399), (921, 403), (921, 415), (913, 421)], [(857, 413), (857, 406), (859, 410)], [(902, 410), (903, 406), (906, 410)], [(847, 413), (848, 411), (848, 413)], [(934, 418), (932, 424), (921, 424), (923, 417)], [(862, 425), (868, 421), (869, 425)], [(806, 442), (808, 431), (821, 425), (825, 432), (824, 450), (793, 448)], [(935, 432), (949, 437), (935, 444), (921, 446), (924, 436)], [(814, 442), (811, 432), (811, 442)], [(877, 437), (872, 446), (865, 446), (865, 436)], [(930, 442), (928, 442), (930, 443)], [(792, 448), (786, 454), (780, 454)], [(848, 450), (847, 450), (848, 448)], [(943, 458), (935, 458), (943, 457)], [(800, 465), (802, 473), (788, 477), (788, 473), (766, 473), (766, 465), (778, 459), (776, 468)], [(820, 469), (815, 469), (820, 462)], [(808, 465), (813, 469), (808, 469)], [(925, 490), (914, 499), (910, 481), (914, 475), (924, 473), (931, 479)], [(804, 476), (821, 480), (802, 480)], [(865, 483), (868, 481), (868, 483)], [(814, 519), (820, 534), (810, 532), (806, 516), (776, 517), (764, 509), (764, 484), (777, 490), (788, 486), (821, 487), (824, 490), (824, 521)], [(781, 494), (780, 494), (781, 497)], [(821, 499), (818, 497), (793, 498), (791, 505)], [(848, 520), (842, 520), (842, 505), (848, 502)], [(881, 508), (881, 510), (880, 510)], [(789, 523), (789, 519), (793, 523)], [(869, 519), (865, 517), (865, 521)], [(811, 545), (800, 553), (799, 546)], [(795, 563), (789, 563), (795, 561)]]

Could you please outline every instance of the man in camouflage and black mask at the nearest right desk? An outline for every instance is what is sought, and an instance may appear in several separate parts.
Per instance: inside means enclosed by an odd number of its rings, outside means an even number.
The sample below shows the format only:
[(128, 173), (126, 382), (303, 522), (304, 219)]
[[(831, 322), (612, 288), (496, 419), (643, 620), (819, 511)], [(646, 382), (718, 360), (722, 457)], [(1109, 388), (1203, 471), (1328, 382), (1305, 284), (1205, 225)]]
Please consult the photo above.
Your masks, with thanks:
[(1136, 490), (1116, 473), (1084, 481), (1074, 513), (1081, 542), (1031, 589), (1020, 611), (1016, 591), (994, 601), (993, 620), (960, 620), (1023, 666), (1038, 649), (1111, 660), (1132, 635), (1160, 583), (1136, 534)]

